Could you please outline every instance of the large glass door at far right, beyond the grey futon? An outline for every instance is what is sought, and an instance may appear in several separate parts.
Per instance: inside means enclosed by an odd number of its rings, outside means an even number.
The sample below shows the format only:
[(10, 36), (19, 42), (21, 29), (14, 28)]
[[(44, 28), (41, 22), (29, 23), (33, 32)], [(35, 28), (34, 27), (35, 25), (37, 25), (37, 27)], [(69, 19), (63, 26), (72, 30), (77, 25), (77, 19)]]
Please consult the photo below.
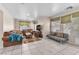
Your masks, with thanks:
[(71, 35), (72, 42), (79, 45), (79, 17), (72, 18)]

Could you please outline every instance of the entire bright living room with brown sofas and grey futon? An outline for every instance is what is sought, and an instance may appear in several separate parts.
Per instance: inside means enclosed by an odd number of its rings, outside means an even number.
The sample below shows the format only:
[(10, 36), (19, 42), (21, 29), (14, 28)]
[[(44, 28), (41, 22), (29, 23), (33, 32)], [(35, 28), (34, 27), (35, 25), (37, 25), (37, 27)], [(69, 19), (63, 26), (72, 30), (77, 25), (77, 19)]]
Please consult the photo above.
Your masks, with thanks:
[(2, 3), (0, 54), (79, 54), (78, 18), (74, 3)]

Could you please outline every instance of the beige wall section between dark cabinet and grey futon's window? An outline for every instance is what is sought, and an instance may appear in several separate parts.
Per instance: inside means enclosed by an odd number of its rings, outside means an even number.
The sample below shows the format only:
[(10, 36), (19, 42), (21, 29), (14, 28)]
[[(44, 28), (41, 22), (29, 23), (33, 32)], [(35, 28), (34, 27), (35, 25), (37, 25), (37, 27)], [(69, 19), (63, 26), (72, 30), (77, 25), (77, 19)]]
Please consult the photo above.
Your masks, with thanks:
[(42, 32), (44, 37), (50, 32), (50, 19), (47, 17), (40, 17), (38, 19), (38, 24), (42, 25)]

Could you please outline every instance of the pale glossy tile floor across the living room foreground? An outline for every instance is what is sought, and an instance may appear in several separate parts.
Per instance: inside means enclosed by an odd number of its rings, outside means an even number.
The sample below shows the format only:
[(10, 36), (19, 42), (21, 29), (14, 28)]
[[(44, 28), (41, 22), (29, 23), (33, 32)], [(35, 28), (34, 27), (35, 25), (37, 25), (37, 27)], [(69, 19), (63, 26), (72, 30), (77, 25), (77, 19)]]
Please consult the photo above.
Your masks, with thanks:
[(0, 55), (78, 55), (79, 47), (60, 44), (50, 39), (0, 48)]

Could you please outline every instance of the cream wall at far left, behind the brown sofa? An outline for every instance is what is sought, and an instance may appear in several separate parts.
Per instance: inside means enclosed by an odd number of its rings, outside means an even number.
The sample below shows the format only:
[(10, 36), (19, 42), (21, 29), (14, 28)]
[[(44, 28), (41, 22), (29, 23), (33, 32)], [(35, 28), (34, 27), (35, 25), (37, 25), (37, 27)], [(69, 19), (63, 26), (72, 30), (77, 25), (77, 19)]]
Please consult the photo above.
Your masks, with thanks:
[(7, 9), (5, 9), (1, 4), (0, 4), (0, 10), (3, 12), (3, 19), (0, 23), (3, 24), (3, 30), (0, 30), (2, 32), (4, 31), (10, 31), (14, 29), (14, 19), (13, 17), (9, 14)]

